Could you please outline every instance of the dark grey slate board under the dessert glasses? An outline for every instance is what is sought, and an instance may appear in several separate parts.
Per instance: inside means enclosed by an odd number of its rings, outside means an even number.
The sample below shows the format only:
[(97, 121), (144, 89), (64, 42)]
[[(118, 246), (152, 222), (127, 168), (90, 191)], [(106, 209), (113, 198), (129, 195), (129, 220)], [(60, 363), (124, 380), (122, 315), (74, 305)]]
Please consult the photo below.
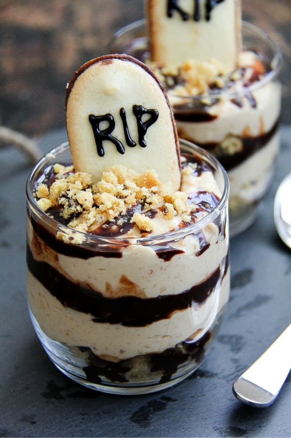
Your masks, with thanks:
[[(25, 194), (29, 165), (1, 149), (0, 339), (2, 437), (287, 437), (291, 379), (273, 406), (242, 405), (232, 394), (239, 374), (291, 320), (291, 252), (277, 237), (273, 200), (291, 171), (291, 127), (272, 189), (256, 223), (231, 241), (232, 291), (220, 334), (201, 369), (177, 386), (145, 396), (112, 396), (63, 376), (37, 340), (25, 297)], [(40, 142), (44, 152), (65, 130)], [(289, 346), (290, 347), (290, 346)]]

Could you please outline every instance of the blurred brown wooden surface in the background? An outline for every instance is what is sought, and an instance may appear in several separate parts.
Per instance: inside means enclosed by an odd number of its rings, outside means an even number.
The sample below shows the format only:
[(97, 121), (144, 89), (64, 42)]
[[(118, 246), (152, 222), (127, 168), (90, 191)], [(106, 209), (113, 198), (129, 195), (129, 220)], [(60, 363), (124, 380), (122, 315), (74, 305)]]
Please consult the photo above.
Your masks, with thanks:
[[(242, 0), (243, 17), (281, 47), (282, 121), (290, 123), (290, 0)], [(143, 0), (0, 0), (0, 124), (39, 136), (62, 127), (66, 82), (142, 18)]]

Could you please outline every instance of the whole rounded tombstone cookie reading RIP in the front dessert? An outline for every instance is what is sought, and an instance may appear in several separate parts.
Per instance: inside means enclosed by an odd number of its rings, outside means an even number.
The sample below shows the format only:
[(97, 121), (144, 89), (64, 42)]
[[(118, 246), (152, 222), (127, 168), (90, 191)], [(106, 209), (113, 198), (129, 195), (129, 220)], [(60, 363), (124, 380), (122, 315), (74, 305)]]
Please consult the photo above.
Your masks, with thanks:
[(68, 83), (66, 128), (77, 171), (96, 182), (121, 164), (154, 169), (162, 183), (180, 186), (178, 136), (166, 94), (149, 68), (128, 55), (82, 65)]

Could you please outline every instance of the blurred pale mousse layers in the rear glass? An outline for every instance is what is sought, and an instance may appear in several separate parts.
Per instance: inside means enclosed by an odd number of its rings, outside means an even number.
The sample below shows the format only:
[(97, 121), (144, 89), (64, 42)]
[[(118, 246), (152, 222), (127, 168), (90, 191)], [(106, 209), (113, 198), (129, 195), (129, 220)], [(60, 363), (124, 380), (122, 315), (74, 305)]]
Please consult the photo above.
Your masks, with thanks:
[[(255, 142), (256, 138), (272, 131), (277, 123), (281, 86), (278, 82), (269, 82), (252, 92), (252, 96), (256, 107), (252, 106), (247, 97), (242, 98), (242, 107), (229, 99), (221, 98), (217, 104), (210, 107), (209, 114), (216, 118), (209, 122), (176, 120), (179, 136), (205, 147), (208, 143), (218, 144), (224, 140), (227, 142), (227, 137), (232, 136), (253, 139)], [(172, 104), (177, 100), (176, 97), (171, 97), (171, 93), (169, 98)], [(245, 205), (253, 204), (264, 195), (279, 146), (279, 133), (275, 131), (263, 147), (227, 171), (231, 214), (239, 214)], [(229, 155), (231, 154), (230, 150)]]

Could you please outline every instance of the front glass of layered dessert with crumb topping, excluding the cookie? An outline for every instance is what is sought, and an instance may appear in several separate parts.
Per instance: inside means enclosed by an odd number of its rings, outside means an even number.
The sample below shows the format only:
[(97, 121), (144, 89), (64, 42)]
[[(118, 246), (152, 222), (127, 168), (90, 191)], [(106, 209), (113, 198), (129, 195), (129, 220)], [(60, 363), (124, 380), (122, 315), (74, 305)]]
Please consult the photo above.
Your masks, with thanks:
[(180, 148), (178, 190), (155, 169), (76, 170), (68, 145), (29, 178), (32, 322), (56, 366), (90, 388), (173, 385), (217, 331), (229, 294), (227, 177), (199, 147)]

